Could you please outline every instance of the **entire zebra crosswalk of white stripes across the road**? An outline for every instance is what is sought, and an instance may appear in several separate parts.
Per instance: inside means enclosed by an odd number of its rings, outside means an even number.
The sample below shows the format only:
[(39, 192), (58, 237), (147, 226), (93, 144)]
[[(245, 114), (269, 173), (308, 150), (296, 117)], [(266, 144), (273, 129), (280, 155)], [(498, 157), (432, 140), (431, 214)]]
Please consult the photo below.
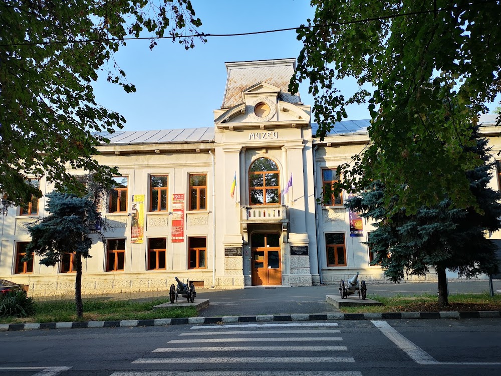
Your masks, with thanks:
[[(169, 371), (141, 370), (115, 372), (111, 376), (362, 376), (362, 372), (356, 370), (312, 370), (311, 365), (314, 364), (345, 363), (348, 366), (348, 364), (355, 363), (353, 356), (334, 356), (336, 352), (348, 351), (346, 346), (334, 346), (328, 343), (343, 340), (341, 336), (329, 336), (329, 334), (341, 332), (339, 329), (333, 329), (336, 326), (338, 326), (337, 323), (259, 323), (193, 326), (191, 329), (205, 330), (190, 330), (189, 332), (180, 333), (179, 337), (181, 338), (171, 339), (167, 342), (167, 346), (152, 351), (158, 355), (167, 355), (165, 357), (143, 357), (134, 360), (132, 363), (177, 364), (178, 367), (190, 364), (197, 368), (202, 367), (201, 370), (191, 371), (181, 368)], [(305, 329), (301, 329), (301, 327), (305, 327)], [(235, 330), (227, 330), (230, 328)], [(275, 336), (276, 334), (282, 334), (283, 336)], [(318, 336), (321, 334), (327, 335)], [(254, 346), (252, 342), (262, 342), (263, 344)], [(273, 342), (280, 342), (280, 344), (270, 346), (269, 344), (273, 344)], [(310, 342), (312, 345), (298, 346), (294, 345), (294, 342)], [(242, 346), (234, 346), (231, 343), (242, 343)], [(321, 343), (326, 345), (320, 346)], [(297, 351), (296, 354), (300, 356), (294, 356), (294, 351)], [(216, 352), (224, 352), (224, 354), (216, 356)], [(323, 356), (309, 356), (314, 355), (313, 352)], [(190, 353), (197, 356), (189, 357), (188, 360), (184, 356), (179, 356), (179, 353)], [(204, 353), (207, 353), (208, 356), (200, 356), (204, 355)], [(262, 354), (265, 356), (259, 356)], [(218, 364), (224, 365), (218, 366)], [(238, 364), (245, 364), (243, 367), (246, 369), (239, 369), (242, 366), (238, 366)], [(258, 369), (263, 367), (266, 369), (266, 364), (273, 364), (273, 368), (277, 368), (277, 365), (283, 365), (282, 368), (284, 369), (280, 369), (280, 366), (278, 369), (264, 371), (252, 369), (256, 365)], [(297, 365), (292, 366), (290, 364)], [(208, 370), (203, 370), (205, 365), (209, 368)], [(308, 369), (301, 370), (305, 365), (308, 366)], [(214, 367), (216, 369), (213, 369)], [(228, 370), (228, 368), (235, 368), (235, 370)], [(287, 368), (293, 368), (294, 370)]]

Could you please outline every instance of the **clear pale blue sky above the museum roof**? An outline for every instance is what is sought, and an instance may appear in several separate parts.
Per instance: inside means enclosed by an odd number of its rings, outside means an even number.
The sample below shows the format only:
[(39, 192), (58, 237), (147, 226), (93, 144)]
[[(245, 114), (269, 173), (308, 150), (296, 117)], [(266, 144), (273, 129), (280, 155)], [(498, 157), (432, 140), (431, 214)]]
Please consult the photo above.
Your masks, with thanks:
[[(192, 0), (192, 5), (203, 23), (200, 31), (212, 34), (297, 27), (314, 14), (307, 0)], [(115, 58), (137, 92), (127, 94), (101, 75), (94, 85), (98, 103), (125, 116), (123, 130), (210, 127), (212, 110), (220, 108), (224, 94), (224, 62), (297, 58), (302, 48), (295, 31), (207, 39), (189, 51), (168, 39), (157, 41), (153, 51), (147, 40), (128, 41)], [(346, 97), (357, 86), (347, 79), (338, 88)], [(305, 104), (313, 105), (306, 82), (300, 94)], [(347, 110), (348, 120), (370, 117), (366, 105)]]

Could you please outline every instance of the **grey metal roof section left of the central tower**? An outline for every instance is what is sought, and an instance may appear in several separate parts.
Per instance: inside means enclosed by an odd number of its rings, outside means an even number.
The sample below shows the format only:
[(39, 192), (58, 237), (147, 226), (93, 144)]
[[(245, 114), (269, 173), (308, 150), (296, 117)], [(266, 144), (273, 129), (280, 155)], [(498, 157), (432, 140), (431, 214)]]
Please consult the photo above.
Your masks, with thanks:
[[(152, 144), (152, 143), (190, 143), (213, 142), (214, 127), (119, 131), (115, 133), (101, 132), (100, 136), (108, 138), (109, 144)], [(103, 142), (104, 144), (104, 142)]]

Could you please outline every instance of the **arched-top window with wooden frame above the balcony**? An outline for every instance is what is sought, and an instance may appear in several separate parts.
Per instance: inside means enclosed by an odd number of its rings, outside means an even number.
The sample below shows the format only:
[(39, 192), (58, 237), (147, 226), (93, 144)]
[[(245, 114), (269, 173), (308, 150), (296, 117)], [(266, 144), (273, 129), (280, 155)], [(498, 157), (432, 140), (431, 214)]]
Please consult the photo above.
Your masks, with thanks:
[(258, 158), (249, 167), (250, 205), (280, 204), (280, 171), (269, 158)]

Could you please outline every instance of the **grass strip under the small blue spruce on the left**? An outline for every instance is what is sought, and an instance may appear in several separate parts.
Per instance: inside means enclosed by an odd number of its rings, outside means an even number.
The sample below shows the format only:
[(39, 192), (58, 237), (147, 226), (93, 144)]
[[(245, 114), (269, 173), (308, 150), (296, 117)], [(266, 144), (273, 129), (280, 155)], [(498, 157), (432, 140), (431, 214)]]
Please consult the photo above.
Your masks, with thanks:
[(84, 299), (84, 317), (77, 318), (74, 300), (37, 301), (35, 314), (25, 318), (0, 317), (0, 323), (147, 320), (154, 318), (193, 317), (195, 307), (153, 309), (165, 300), (134, 302), (132, 300)]

